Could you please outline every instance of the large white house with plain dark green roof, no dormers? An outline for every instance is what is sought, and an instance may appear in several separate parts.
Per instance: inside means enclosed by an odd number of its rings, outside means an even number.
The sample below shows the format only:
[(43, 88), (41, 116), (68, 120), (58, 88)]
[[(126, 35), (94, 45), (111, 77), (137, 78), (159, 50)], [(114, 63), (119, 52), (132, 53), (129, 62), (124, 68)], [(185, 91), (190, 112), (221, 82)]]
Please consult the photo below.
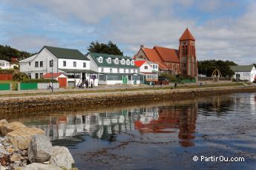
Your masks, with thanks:
[(98, 86), (97, 72), (90, 69), (90, 60), (79, 50), (45, 46), (36, 55), (19, 61), (19, 64), (20, 72), (30, 78), (43, 78), (50, 72), (62, 73), (68, 77), (68, 86), (77, 86), (85, 80)]

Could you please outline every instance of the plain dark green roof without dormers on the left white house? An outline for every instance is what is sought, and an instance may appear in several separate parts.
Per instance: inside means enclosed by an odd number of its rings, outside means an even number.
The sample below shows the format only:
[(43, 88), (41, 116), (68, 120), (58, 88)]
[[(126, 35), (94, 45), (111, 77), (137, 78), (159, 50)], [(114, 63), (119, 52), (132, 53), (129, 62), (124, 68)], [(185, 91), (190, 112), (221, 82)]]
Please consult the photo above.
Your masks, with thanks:
[(82, 52), (79, 52), (79, 50), (68, 49), (68, 48), (59, 48), (59, 47), (50, 47), (50, 46), (45, 46), (45, 48), (47, 48), (47, 50), (52, 52), (53, 55), (56, 56), (56, 58), (89, 61), (89, 59), (87, 57), (85, 57), (85, 55), (83, 55)]

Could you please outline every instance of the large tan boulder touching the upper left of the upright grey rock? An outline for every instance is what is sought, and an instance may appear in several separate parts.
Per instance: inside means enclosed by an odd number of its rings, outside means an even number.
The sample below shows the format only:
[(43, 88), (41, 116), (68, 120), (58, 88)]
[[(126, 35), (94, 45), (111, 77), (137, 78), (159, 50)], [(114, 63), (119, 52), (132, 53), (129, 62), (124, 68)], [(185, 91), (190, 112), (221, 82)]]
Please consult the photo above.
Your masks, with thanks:
[(5, 138), (8, 143), (19, 149), (27, 149), (33, 135), (44, 135), (45, 132), (38, 128), (22, 128), (9, 132)]

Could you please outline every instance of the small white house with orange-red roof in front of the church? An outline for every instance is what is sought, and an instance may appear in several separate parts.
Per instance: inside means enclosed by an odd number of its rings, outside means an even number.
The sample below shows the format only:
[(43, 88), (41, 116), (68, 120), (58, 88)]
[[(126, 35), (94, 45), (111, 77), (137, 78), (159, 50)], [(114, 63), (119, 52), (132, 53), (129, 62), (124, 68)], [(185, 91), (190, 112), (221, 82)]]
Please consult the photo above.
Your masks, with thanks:
[(158, 81), (159, 67), (157, 63), (138, 58), (135, 60), (135, 65), (140, 67), (140, 75), (143, 75), (144, 83), (152, 84), (152, 82)]

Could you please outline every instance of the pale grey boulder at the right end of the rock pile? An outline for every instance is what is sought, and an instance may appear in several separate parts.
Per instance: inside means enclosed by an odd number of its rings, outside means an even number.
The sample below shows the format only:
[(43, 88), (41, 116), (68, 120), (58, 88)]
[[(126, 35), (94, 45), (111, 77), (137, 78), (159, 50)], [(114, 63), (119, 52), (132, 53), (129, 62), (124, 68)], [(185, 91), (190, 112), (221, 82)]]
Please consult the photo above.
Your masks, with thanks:
[(50, 157), (50, 164), (59, 166), (65, 169), (71, 169), (75, 161), (64, 146), (53, 146), (53, 154)]

